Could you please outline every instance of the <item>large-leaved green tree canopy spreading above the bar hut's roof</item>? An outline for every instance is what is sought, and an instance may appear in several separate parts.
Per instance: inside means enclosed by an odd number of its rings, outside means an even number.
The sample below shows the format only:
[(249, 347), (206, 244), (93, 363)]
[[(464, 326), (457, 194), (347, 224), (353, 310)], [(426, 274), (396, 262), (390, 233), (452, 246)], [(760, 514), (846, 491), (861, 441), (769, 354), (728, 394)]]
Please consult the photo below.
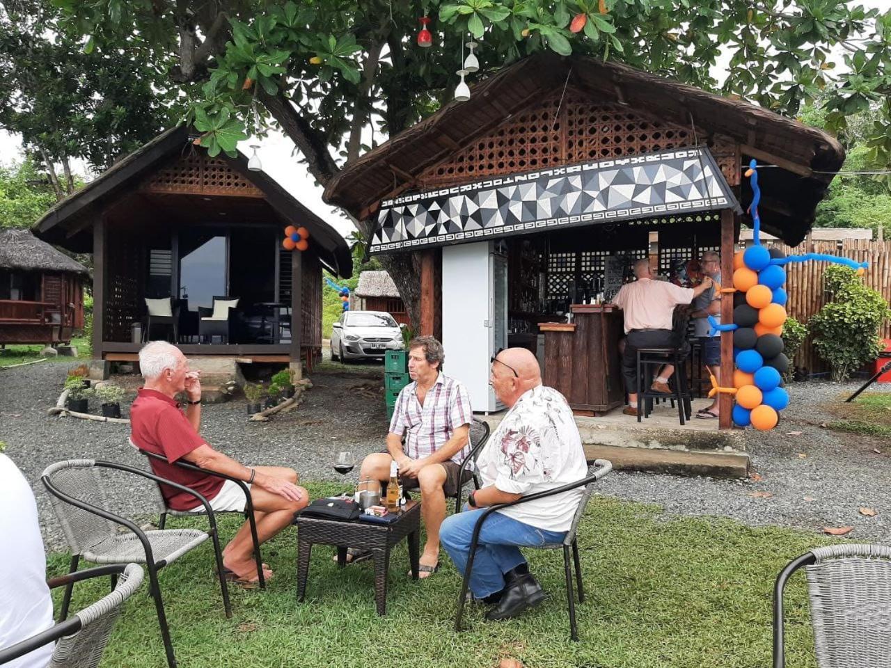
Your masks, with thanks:
[[(839, 0), (54, 0), (74, 36), (101, 51), (134, 48), (176, 61), (209, 151), (277, 126), (320, 183), (373, 131), (393, 135), (453, 94), (461, 43), (481, 44), (480, 72), (528, 53), (593, 53), (796, 115), (826, 96), (827, 125), (881, 105), (871, 159), (891, 157), (891, 12)], [(415, 44), (418, 18), (435, 45)], [(833, 62), (834, 45), (845, 50)], [(709, 66), (732, 54), (729, 76)], [(844, 64), (845, 67), (841, 67)], [(372, 128), (372, 132), (368, 128)], [(367, 230), (364, 230), (367, 233)], [(410, 257), (382, 260), (417, 322)]]

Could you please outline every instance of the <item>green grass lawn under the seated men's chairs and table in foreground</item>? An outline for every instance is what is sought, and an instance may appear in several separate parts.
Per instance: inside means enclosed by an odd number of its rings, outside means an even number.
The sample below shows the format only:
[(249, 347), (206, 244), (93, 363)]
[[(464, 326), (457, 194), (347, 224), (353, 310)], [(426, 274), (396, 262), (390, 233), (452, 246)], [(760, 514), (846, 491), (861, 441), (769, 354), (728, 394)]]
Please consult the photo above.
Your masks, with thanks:
[[(339, 491), (309, 485), (314, 496)], [(233, 534), (237, 517), (223, 520)], [(172, 526), (202, 526), (173, 519)], [(529, 550), (550, 598), (506, 623), (487, 623), (468, 607), (467, 631), (453, 631), (461, 580), (443, 554), (426, 582), (406, 576), (405, 543), (390, 561), (388, 615), (374, 612), (369, 562), (338, 571), (333, 548), (313, 551), (307, 600), (296, 599), (296, 535), (286, 530), (266, 545), (275, 571), (266, 591), (233, 588), (226, 619), (209, 544), (160, 575), (174, 647), (190, 668), (379, 665), (387, 668), (496, 666), (518, 658), (527, 667), (703, 668), (770, 664), (771, 596), (790, 558), (827, 541), (780, 528), (748, 528), (725, 519), (673, 519), (653, 506), (594, 497), (580, 529), (587, 599), (577, 607), (581, 640), (569, 640), (561, 553)], [(68, 556), (50, 558), (50, 574)], [(813, 666), (803, 575), (787, 590), (789, 666)], [(147, 584), (147, 582), (146, 582)], [(108, 581), (79, 585), (77, 610), (101, 597)], [(163, 666), (154, 607), (143, 585), (127, 604), (102, 665)]]

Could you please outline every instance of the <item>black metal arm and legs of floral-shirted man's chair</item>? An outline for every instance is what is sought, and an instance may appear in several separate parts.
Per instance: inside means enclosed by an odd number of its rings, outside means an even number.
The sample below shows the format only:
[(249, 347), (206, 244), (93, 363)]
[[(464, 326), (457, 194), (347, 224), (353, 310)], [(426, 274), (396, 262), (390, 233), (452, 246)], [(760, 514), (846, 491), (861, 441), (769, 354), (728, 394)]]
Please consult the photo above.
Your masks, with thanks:
[[(594, 471), (590, 476), (584, 477), (581, 480), (577, 480), (575, 483), (569, 483), (568, 485), (560, 485), (560, 487), (554, 487), (552, 490), (548, 490), (547, 492), (538, 492), (535, 494), (529, 494), (528, 496), (524, 496), (517, 501), (510, 501), (509, 503), (498, 503), (495, 506), (489, 506), (486, 510), (479, 516), (477, 520), (477, 524), (473, 527), (473, 535), (470, 538), (470, 554), (467, 558), (467, 566), (464, 568), (464, 579), (461, 584), (461, 595), (458, 597), (458, 609), (455, 613), (454, 617), (454, 630), (461, 631), (461, 619), (464, 613), (464, 604), (467, 602), (467, 592), (470, 587), (470, 574), (473, 572), (473, 561), (477, 554), (477, 545), (479, 542), (479, 532), (483, 528), (483, 522), (486, 521), (486, 518), (492, 515), (497, 510), (501, 510), (504, 508), (510, 508), (511, 506), (517, 506), (520, 503), (526, 503), (527, 501), (535, 501), (536, 499), (544, 499), (549, 496), (554, 496), (556, 494), (561, 494), (564, 492), (568, 492), (569, 490), (576, 489), (578, 487), (586, 487), (587, 485), (591, 485), (596, 483), (601, 477), (606, 476), (609, 471), (612, 470), (612, 464), (606, 460), (596, 460), (593, 464), (594, 466), (600, 466), (597, 470)], [(589, 469), (590, 470), (590, 469)], [(575, 527), (574, 527), (575, 528)], [(572, 568), (569, 566), (569, 549), (572, 548), (572, 560), (576, 566), (576, 585), (578, 587), (578, 602), (579, 604), (584, 603), (584, 587), (582, 584), (582, 562), (578, 556), (578, 541), (576, 538), (576, 531), (571, 531), (572, 539), (569, 542), (564, 540), (563, 542), (563, 570), (566, 574), (566, 593), (568, 599), (568, 608), (569, 608), (569, 637), (573, 640), (578, 640), (578, 629), (576, 626), (576, 595), (575, 588), (572, 584)], [(567, 535), (568, 538), (568, 535)], [(531, 547), (531, 546), (530, 546)], [(532, 549), (535, 549), (532, 547)], [(540, 548), (539, 548), (540, 549)]]

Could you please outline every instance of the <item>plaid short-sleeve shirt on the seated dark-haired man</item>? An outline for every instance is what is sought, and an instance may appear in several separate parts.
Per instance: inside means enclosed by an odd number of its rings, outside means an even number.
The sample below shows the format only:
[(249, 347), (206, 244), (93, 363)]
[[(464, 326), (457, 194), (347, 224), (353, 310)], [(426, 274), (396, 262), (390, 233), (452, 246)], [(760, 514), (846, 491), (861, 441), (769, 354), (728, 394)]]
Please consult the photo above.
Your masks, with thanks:
[[(436, 452), (454, 435), (454, 430), (473, 420), (470, 395), (459, 381), (440, 373), (433, 387), (418, 401), (418, 383), (402, 388), (396, 399), (390, 433), (405, 436), (403, 451), (413, 460)], [(452, 460), (460, 464), (470, 452), (470, 439)]]

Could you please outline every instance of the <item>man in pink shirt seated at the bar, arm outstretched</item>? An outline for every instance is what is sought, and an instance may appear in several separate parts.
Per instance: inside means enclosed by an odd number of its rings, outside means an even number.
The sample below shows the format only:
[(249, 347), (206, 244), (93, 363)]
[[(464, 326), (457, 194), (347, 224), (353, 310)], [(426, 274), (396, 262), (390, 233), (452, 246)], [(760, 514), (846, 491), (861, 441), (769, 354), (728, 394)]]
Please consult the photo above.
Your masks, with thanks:
[[(672, 316), (674, 306), (690, 304), (712, 286), (707, 276), (696, 288), (681, 288), (668, 281), (653, 281), (650, 260), (642, 259), (634, 263), (633, 283), (622, 286), (613, 299), (613, 304), (622, 309), (625, 315), (625, 353), (622, 355), (622, 375), (628, 391), (628, 407), (625, 415), (637, 415), (637, 349), (656, 346), (673, 346)], [(670, 393), (668, 379), (674, 367), (666, 364), (651, 389)]]

